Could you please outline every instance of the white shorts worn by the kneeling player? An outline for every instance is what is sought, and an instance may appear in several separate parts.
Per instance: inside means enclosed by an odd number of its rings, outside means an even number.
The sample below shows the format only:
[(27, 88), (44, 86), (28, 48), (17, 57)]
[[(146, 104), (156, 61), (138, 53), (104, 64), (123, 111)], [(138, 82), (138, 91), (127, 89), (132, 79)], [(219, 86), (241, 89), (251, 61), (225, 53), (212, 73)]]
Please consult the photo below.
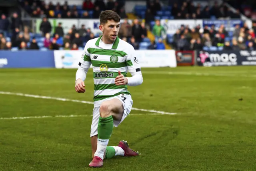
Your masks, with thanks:
[[(124, 119), (129, 115), (130, 111), (132, 110), (132, 96), (131, 95), (126, 95), (126, 94), (120, 94), (116, 97), (112, 97), (106, 100), (111, 100), (117, 98), (119, 99), (122, 103), (123, 103), (123, 107), (124, 107), (124, 113), (123, 113), (123, 117), (120, 121), (116, 121), (114, 120), (114, 126), (118, 127), (118, 125), (124, 121)], [(99, 122), (99, 118), (100, 118), (100, 107), (94, 107), (93, 111), (92, 111), (92, 125), (91, 125), (91, 133), (90, 136), (94, 136), (94, 135), (98, 135), (98, 122)]]

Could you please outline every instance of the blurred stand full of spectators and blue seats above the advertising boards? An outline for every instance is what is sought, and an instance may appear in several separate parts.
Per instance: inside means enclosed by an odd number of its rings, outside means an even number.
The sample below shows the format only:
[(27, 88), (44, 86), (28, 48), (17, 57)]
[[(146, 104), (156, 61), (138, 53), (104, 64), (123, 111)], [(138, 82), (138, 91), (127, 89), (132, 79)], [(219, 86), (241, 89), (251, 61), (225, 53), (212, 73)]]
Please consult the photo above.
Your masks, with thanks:
[(251, 0), (2, 0), (0, 50), (80, 50), (100, 36), (102, 10), (136, 50), (254, 50)]

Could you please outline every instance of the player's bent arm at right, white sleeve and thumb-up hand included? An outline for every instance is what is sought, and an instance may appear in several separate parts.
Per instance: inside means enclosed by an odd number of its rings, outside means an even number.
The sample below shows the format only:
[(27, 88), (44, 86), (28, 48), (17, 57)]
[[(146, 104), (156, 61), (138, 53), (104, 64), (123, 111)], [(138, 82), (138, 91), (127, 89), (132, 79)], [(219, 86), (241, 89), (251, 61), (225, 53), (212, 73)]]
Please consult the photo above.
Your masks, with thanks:
[(137, 86), (142, 84), (143, 77), (140, 68), (140, 64), (138, 58), (135, 55), (135, 50), (131, 46), (129, 50), (129, 54), (126, 58), (126, 65), (128, 67), (128, 72), (131, 73), (132, 77), (124, 77), (121, 72), (119, 71), (118, 75), (115, 80), (116, 85), (130, 85), (130, 86)]

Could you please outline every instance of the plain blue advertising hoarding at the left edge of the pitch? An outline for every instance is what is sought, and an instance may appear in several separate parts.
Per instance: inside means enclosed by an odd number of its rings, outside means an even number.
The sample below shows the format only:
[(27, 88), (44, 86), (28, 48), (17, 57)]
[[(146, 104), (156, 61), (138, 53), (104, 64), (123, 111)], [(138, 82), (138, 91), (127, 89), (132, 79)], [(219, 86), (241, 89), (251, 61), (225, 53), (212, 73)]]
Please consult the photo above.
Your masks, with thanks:
[(0, 51), (0, 68), (55, 68), (53, 51)]

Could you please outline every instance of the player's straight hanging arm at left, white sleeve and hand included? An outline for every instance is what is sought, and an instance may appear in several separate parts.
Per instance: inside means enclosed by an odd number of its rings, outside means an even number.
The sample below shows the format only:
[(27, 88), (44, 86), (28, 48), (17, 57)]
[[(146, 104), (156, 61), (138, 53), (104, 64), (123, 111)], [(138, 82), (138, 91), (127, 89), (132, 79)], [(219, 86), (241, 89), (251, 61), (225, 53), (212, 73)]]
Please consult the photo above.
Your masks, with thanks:
[(90, 59), (90, 54), (88, 53), (88, 43), (86, 43), (84, 47), (84, 52), (82, 53), (81, 60), (78, 64), (78, 70), (76, 71), (76, 85), (75, 89), (78, 93), (84, 93), (85, 92), (85, 84), (84, 80), (86, 79), (86, 74), (88, 72), (88, 69), (90, 68), (92, 62)]

